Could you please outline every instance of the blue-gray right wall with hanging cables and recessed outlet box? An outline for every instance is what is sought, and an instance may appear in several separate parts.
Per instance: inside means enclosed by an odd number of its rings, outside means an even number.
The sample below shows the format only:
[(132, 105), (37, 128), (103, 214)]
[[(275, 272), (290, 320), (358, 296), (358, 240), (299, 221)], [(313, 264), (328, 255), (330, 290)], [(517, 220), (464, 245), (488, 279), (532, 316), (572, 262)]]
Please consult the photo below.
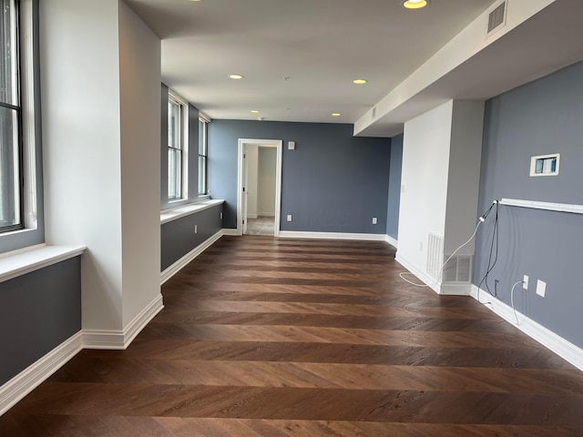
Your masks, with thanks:
[[(583, 63), (486, 102), (480, 212), (501, 198), (583, 204), (581, 77)], [(555, 152), (561, 154), (560, 174), (530, 178), (530, 157)], [(477, 236), (476, 285), (486, 273), (493, 218), (491, 214)], [(512, 285), (528, 275), (529, 289), (517, 286), (517, 310), (583, 347), (578, 271), (583, 259), (583, 216), (500, 206), (499, 229), (490, 290), (498, 279), (498, 298), (510, 304)], [(544, 299), (535, 294), (537, 279), (547, 282)]]

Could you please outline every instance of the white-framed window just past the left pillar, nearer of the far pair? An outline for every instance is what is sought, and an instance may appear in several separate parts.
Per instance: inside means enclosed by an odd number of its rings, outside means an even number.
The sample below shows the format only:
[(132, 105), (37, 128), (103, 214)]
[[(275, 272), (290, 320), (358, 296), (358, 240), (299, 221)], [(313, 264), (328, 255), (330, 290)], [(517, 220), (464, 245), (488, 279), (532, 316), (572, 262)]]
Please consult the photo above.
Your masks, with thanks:
[[(172, 90), (169, 90), (168, 96), (168, 110), (169, 110), (169, 122), (168, 122), (168, 145), (167, 145), (167, 152), (168, 152), (168, 201), (169, 203), (179, 202), (181, 200), (186, 200), (189, 198), (189, 104), (186, 102), (182, 97)], [(172, 132), (171, 127), (171, 105), (177, 105), (179, 107), (179, 116), (177, 118), (177, 122), (179, 124), (178, 127), (178, 146), (179, 147), (172, 147), (170, 145), (170, 137)], [(179, 174), (174, 175), (176, 180), (174, 181), (175, 185), (179, 187), (179, 193), (176, 195), (172, 195), (172, 171), (171, 171), (171, 160), (170, 160), (170, 152), (174, 151), (176, 153), (179, 152)]]

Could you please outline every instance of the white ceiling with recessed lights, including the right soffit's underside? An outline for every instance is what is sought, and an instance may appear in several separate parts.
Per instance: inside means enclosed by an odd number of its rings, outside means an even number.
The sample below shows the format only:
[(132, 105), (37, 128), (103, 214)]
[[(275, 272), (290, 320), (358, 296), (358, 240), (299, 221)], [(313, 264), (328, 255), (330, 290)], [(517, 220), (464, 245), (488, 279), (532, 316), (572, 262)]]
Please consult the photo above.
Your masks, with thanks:
[[(513, 0), (508, 0), (511, 2)], [(515, 0), (520, 1), (520, 0)], [(524, 0), (522, 0), (524, 2)], [(538, 2), (540, 0), (529, 0)], [(495, 0), (433, 0), (428, 7), (405, 10), (399, 0), (126, 0), (128, 5), (162, 39), (162, 80), (211, 118), (355, 123), (404, 82), (427, 59), (467, 25), (484, 14)], [(547, 2), (548, 3), (548, 2)], [(575, 32), (583, 17), (583, 1), (557, 0), (576, 5), (568, 32)], [(510, 4), (509, 4), (510, 5)], [(539, 15), (547, 15), (549, 8)], [(557, 20), (555, 8), (553, 20)], [(560, 15), (559, 15), (560, 16)], [(550, 23), (549, 23), (550, 22)], [(541, 44), (557, 27), (542, 20), (544, 31), (531, 29)], [(492, 57), (506, 56), (506, 44), (488, 47), (468, 59), (450, 75), (437, 78), (402, 105), (362, 129), (360, 135), (392, 136), (410, 117), (444, 98), (486, 98), (521, 85), (583, 58), (581, 30), (568, 56), (544, 64), (527, 78), (524, 68), (512, 80), (492, 77), (485, 67)], [(517, 32), (514, 32), (515, 34)], [(568, 34), (568, 36), (572, 36)], [(524, 44), (528, 35), (513, 36)], [(510, 39), (510, 38), (509, 38)], [(516, 54), (516, 55), (519, 55)], [(578, 57), (580, 56), (580, 57)], [(578, 58), (578, 59), (577, 59)], [(521, 61), (523, 62), (523, 61)], [(532, 62), (530, 63), (532, 64)], [(535, 66), (537, 68), (537, 66)], [(473, 79), (467, 82), (467, 72)], [(532, 66), (529, 66), (532, 69)], [(496, 69), (494, 70), (496, 71)], [(230, 74), (245, 76), (234, 81)], [(477, 75), (477, 76), (476, 76)], [(518, 76), (518, 77), (517, 77)], [(287, 79), (286, 79), (287, 77)], [(464, 77), (464, 80), (460, 80)], [(355, 78), (368, 83), (355, 86)], [(496, 85), (488, 85), (495, 80)], [(464, 83), (460, 83), (464, 82)], [(474, 83), (475, 82), (475, 83)], [(507, 83), (506, 83), (507, 82)], [(426, 96), (425, 96), (426, 95)], [(259, 115), (251, 114), (259, 109)], [(332, 112), (342, 117), (332, 117)]]

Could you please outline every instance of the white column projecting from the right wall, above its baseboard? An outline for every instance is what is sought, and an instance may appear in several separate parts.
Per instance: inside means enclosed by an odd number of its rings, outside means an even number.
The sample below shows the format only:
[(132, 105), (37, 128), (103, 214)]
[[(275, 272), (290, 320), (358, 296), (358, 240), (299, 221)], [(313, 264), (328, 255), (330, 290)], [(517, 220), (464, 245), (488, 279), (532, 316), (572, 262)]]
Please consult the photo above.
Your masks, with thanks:
[[(436, 280), (445, 257), (476, 229), (483, 125), (484, 102), (457, 100), (404, 125), (397, 260), (439, 292), (470, 292), (469, 281)], [(443, 242), (433, 255), (435, 271), (428, 266), (429, 233)], [(457, 252), (473, 254), (474, 240)]]

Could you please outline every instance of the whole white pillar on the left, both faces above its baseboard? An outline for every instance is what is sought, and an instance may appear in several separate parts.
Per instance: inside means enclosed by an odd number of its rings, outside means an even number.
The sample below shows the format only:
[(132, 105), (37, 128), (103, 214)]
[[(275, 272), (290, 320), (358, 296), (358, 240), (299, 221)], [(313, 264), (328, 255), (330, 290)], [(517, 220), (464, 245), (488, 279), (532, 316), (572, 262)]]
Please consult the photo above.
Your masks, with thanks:
[(160, 42), (119, 0), (40, 2), (49, 244), (84, 244), (84, 330), (159, 296)]

